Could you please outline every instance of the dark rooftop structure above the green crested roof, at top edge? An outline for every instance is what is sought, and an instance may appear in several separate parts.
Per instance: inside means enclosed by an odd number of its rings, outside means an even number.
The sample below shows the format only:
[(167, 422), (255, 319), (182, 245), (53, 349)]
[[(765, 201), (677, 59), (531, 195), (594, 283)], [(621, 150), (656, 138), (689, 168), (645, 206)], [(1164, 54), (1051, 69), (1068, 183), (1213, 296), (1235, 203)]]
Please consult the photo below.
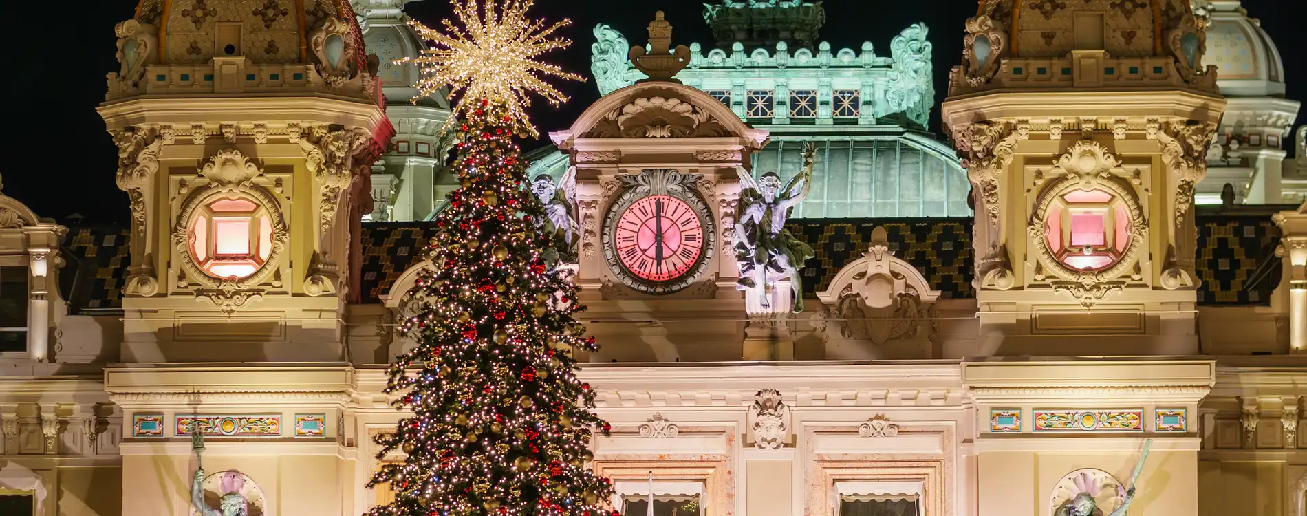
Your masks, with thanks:
[[(718, 4), (720, 3), (720, 5)], [(826, 24), (821, 1), (809, 0), (718, 0), (704, 4), (703, 20), (712, 27), (718, 46), (731, 48), (774, 47), (779, 42), (812, 48)]]

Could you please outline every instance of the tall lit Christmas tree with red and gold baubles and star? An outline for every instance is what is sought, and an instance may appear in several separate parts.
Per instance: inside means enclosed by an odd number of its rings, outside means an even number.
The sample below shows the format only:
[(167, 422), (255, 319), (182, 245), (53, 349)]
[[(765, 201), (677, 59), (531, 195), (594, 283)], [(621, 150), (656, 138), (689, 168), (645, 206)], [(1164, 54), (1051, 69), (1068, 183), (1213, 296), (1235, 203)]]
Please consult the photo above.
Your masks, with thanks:
[(552, 239), (540, 201), (525, 189), (514, 137), (535, 133), (531, 94), (566, 97), (546, 77), (579, 78), (536, 59), (570, 42), (527, 18), (531, 0), (456, 1), (457, 22), (437, 31), (414, 24), (433, 48), (421, 65), (422, 94), (460, 95), (452, 128), (461, 189), (435, 219), (433, 270), (408, 295), (420, 307), (400, 331), (417, 347), (389, 370), (388, 393), (412, 410), (378, 438), (386, 456), (369, 486), (389, 483), (395, 502), (372, 516), (608, 515), (612, 483), (595, 476), (589, 411), (593, 393), (578, 380), (571, 350), (593, 350), (572, 315), (576, 289), (549, 269)]

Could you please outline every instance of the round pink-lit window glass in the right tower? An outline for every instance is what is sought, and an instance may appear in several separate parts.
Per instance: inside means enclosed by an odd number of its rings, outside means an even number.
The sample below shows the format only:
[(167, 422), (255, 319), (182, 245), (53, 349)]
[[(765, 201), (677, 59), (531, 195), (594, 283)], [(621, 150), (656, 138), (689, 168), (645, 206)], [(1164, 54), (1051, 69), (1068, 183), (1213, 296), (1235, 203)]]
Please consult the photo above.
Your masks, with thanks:
[(1073, 189), (1044, 217), (1044, 239), (1057, 261), (1076, 270), (1116, 264), (1131, 243), (1125, 202), (1102, 189)]

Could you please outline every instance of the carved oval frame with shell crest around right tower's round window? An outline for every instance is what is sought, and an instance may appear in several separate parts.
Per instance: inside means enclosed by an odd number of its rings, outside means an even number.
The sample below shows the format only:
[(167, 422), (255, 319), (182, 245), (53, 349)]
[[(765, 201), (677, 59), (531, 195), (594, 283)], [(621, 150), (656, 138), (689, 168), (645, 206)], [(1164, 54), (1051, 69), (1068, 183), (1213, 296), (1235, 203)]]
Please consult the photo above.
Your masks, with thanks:
[[(1094, 306), (1108, 294), (1125, 286), (1123, 277), (1132, 276), (1140, 252), (1148, 236), (1148, 219), (1138, 195), (1124, 178), (1120, 161), (1102, 145), (1090, 140), (1076, 142), (1055, 162), (1052, 175), (1060, 179), (1044, 183), (1035, 200), (1034, 213), (1026, 226), (1030, 244), (1035, 251), (1039, 266), (1051, 272), (1057, 280), (1051, 281), (1055, 291), (1067, 291), (1085, 307)], [(1129, 216), (1131, 240), (1121, 251), (1120, 259), (1102, 270), (1078, 270), (1061, 263), (1048, 248), (1044, 225), (1053, 201), (1072, 191), (1103, 189), (1125, 204)]]

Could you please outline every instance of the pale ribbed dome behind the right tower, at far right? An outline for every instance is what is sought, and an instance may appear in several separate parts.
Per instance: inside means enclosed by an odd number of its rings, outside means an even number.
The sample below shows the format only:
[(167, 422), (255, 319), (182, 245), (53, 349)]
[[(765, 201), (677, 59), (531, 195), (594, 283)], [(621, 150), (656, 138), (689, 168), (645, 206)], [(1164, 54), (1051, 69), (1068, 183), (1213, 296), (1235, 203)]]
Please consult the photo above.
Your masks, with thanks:
[(1195, 0), (1195, 13), (1209, 20), (1206, 63), (1219, 67), (1217, 84), (1226, 97), (1285, 94), (1280, 50), (1249, 18), (1239, 0)]

